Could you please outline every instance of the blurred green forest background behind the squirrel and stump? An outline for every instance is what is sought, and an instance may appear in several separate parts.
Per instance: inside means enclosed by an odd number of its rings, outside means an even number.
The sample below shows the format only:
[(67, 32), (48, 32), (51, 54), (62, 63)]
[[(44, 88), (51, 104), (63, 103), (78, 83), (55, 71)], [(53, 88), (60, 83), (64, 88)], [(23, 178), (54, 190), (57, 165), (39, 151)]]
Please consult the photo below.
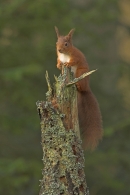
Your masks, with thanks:
[(75, 28), (74, 45), (86, 56), (104, 138), (86, 152), (91, 195), (130, 194), (130, 1), (0, 1), (0, 194), (36, 195), (42, 178), (40, 120), (45, 71), (52, 82), (57, 40)]

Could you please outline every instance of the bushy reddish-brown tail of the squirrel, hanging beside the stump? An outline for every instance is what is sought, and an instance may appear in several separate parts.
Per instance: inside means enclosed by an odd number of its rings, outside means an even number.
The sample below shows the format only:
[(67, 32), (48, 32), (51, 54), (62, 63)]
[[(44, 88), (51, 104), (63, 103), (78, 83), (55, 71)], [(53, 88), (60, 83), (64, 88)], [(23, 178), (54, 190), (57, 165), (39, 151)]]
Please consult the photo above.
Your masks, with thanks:
[(84, 149), (94, 149), (102, 138), (102, 117), (98, 102), (89, 91), (78, 92), (78, 115)]

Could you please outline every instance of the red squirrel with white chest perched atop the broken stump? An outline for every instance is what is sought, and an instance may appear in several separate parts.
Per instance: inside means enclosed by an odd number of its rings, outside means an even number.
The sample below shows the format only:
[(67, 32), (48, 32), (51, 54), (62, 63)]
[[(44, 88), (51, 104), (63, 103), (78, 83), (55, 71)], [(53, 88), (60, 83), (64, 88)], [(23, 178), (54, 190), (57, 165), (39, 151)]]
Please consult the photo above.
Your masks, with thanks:
[[(68, 35), (61, 36), (57, 27), (57, 68), (61, 69), (64, 64), (71, 67), (75, 77), (80, 77), (89, 71), (88, 63), (84, 54), (73, 46), (72, 36), (74, 29)], [(78, 91), (78, 116), (81, 136), (83, 137), (84, 149), (95, 149), (102, 138), (102, 117), (98, 102), (89, 86), (89, 76), (76, 83)]]

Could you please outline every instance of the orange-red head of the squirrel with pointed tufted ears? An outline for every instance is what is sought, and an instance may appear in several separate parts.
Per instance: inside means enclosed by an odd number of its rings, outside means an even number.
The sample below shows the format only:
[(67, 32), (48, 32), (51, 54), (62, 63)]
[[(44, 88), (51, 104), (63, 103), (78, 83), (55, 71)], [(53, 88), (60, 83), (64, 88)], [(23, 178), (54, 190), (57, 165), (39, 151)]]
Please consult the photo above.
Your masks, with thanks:
[(56, 26), (55, 26), (55, 31), (56, 31), (57, 38), (58, 38), (56, 42), (57, 51), (63, 54), (69, 54), (73, 46), (72, 36), (74, 33), (74, 29), (72, 29), (66, 36), (61, 36)]

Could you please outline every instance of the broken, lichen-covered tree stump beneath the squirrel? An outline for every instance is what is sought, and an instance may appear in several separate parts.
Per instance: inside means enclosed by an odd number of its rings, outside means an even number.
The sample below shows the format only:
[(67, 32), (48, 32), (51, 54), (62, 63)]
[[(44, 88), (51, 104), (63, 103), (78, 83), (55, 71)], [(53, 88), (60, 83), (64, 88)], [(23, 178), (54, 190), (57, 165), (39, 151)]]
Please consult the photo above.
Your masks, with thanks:
[(52, 88), (46, 73), (46, 101), (36, 103), (44, 164), (39, 195), (88, 195), (75, 82), (71, 82), (73, 75), (68, 68), (55, 79)]

